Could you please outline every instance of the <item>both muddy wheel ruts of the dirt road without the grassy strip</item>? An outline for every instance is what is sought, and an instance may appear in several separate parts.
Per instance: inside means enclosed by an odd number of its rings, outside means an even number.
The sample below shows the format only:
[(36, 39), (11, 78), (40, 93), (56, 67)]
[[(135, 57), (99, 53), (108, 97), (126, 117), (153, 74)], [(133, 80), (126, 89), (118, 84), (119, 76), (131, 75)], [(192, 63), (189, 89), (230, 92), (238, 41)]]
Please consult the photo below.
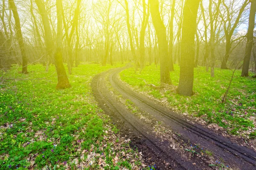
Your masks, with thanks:
[[(146, 152), (153, 151), (157, 155), (155, 160), (159, 161), (161, 169), (209, 169), (209, 167), (207, 162), (202, 163), (199, 160), (193, 160), (193, 162), (197, 162), (197, 166), (193, 166), (191, 160), (184, 160), (175, 150), (172, 150), (168, 141), (162, 142), (157, 139), (151, 132), (151, 129), (145, 125), (145, 122), (140, 121), (126, 108), (116, 103), (115, 97), (106, 88), (105, 77), (109, 79), (112, 87), (122, 94), (124, 98), (130, 99), (141, 111), (145, 111), (155, 119), (164, 122), (172, 131), (180, 133), (183, 138), (206, 147), (207, 150), (211, 150), (215, 153), (215, 156), (221, 157), (232, 167), (239, 167), (241, 170), (256, 169), (255, 151), (232, 143), (230, 139), (215, 134), (197, 123), (184, 119), (177, 113), (169, 111), (162, 105), (131, 91), (123, 85), (117, 76), (125, 68), (127, 67), (113, 69), (94, 77), (92, 81), (93, 94), (99, 102), (99, 106), (112, 119), (122, 120), (124, 125), (131, 129), (134, 136), (141, 136), (140, 139), (134, 139), (138, 141), (137, 145), (139, 145), (139, 148), (147, 150)], [(129, 135), (131, 133), (126, 132), (126, 134)], [(169, 166), (166, 166), (166, 162), (169, 163)]]

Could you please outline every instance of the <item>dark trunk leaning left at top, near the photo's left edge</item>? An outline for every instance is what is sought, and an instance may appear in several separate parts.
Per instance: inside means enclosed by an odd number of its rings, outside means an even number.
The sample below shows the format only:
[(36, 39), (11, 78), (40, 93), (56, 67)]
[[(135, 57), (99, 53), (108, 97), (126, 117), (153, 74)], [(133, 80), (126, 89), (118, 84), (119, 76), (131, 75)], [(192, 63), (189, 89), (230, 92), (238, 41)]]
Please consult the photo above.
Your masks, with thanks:
[(27, 70), (28, 58), (27, 58), (27, 54), (25, 51), (25, 45), (23, 42), (23, 36), (22, 36), (22, 32), (21, 32), (21, 27), (20, 27), (20, 17), (19, 17), (17, 7), (16, 7), (14, 1), (9, 0), (9, 4), (12, 9), (13, 17), (15, 20), (15, 29), (16, 29), (17, 39), (18, 39), (18, 43), (20, 46), (21, 56), (22, 56), (22, 71), (21, 71), (21, 73), (27, 74), (28, 73), (28, 70)]

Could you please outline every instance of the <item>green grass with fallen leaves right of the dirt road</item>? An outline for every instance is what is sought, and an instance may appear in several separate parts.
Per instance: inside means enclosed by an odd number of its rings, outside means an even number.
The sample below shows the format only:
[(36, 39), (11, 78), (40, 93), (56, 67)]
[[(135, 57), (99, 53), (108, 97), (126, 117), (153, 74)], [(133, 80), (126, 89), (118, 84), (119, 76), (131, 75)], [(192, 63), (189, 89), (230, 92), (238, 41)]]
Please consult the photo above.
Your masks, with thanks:
[[(178, 95), (175, 88), (164, 91), (146, 85), (160, 85), (160, 68), (155, 65), (146, 66), (141, 72), (128, 68), (120, 73), (120, 77), (139, 91), (147, 92), (157, 99), (165, 98), (170, 106), (180, 112), (200, 117), (208, 124), (218, 124), (231, 134), (244, 133), (255, 137), (256, 79), (240, 77), (241, 71), (236, 71), (227, 103), (222, 104), (221, 99), (229, 85), (232, 71), (215, 68), (215, 77), (210, 77), (204, 67), (198, 67), (194, 73), (195, 95), (192, 97)], [(172, 84), (177, 86), (178, 65), (175, 65), (175, 72), (170, 72), (170, 77)]]

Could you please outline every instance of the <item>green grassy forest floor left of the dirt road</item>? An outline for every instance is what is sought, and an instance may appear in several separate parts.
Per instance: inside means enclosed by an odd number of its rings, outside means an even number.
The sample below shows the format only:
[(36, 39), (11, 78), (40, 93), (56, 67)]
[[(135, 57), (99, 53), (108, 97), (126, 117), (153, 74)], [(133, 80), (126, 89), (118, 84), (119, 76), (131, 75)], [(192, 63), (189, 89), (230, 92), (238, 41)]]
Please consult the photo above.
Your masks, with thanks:
[(17, 80), (0, 85), (0, 169), (145, 167), (91, 93), (92, 77), (110, 68), (79, 65), (69, 75), (72, 88), (60, 91), (53, 65), (48, 73), (29, 65), (27, 75), (18, 74), (20, 69), (1, 75)]

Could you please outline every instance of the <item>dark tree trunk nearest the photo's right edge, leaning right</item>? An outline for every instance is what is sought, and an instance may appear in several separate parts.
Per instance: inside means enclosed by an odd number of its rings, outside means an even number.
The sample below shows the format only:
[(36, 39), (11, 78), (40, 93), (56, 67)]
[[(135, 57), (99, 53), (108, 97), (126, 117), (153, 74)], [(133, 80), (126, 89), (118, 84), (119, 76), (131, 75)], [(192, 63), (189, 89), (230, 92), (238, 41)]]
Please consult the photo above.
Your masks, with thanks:
[(250, 5), (250, 15), (249, 15), (249, 26), (248, 26), (248, 32), (247, 32), (247, 45), (246, 45), (241, 77), (249, 76), (250, 56), (251, 56), (252, 47), (253, 47), (253, 29), (255, 26), (256, 0), (251, 0), (250, 2), (251, 2), (251, 5)]

